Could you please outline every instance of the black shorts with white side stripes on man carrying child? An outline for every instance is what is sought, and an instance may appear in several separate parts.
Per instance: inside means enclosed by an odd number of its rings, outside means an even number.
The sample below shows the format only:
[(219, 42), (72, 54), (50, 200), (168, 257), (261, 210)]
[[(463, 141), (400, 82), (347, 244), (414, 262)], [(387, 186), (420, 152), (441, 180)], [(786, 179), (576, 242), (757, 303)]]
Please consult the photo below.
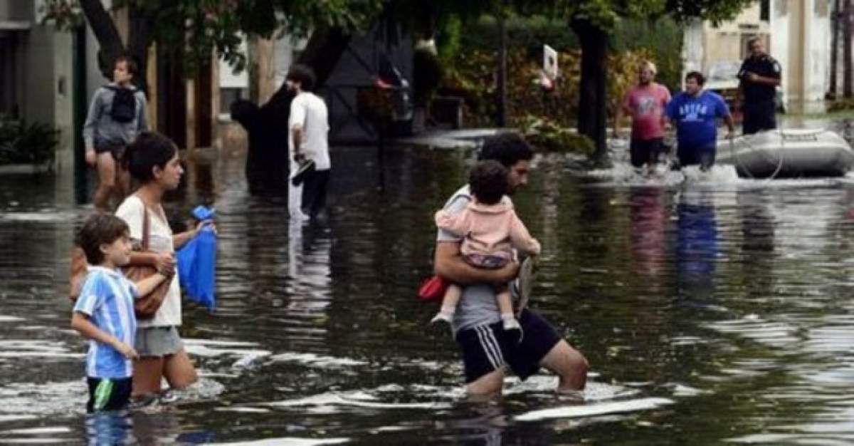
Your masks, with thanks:
[(519, 316), (519, 325), (524, 332), (521, 343), (518, 342), (519, 331), (504, 330), (501, 322), (457, 333), (466, 384), (504, 365), (519, 379), (527, 379), (540, 370), (540, 361), (560, 342), (560, 336), (540, 315), (527, 309)]

